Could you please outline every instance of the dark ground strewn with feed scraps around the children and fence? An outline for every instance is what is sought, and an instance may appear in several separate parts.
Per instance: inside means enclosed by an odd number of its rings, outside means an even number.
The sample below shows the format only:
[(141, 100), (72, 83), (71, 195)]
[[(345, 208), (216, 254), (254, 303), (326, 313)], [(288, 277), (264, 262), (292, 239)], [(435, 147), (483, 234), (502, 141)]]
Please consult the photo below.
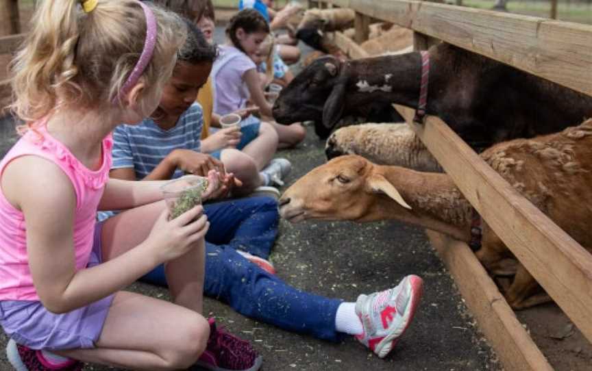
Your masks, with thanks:
[[(218, 28), (219, 39), (221, 32)], [(0, 120), (0, 157), (14, 143), (13, 127), (11, 120)], [(294, 164), (287, 183), (325, 162), (322, 150), (323, 142), (309, 127), (304, 144), (278, 153)], [(288, 333), (206, 298), (206, 315), (250, 340), (264, 357), (264, 370), (502, 370), (421, 229), (387, 221), (291, 225), (282, 220), (271, 259), (280, 278), (319, 295), (355, 300), (358, 294), (391, 287), (410, 273), (423, 277), (425, 294), (414, 323), (386, 359), (374, 357), (352, 338), (331, 344)], [(167, 290), (145, 283), (129, 290), (168, 299)], [(556, 370), (592, 370), (591, 345), (556, 305), (517, 316)], [(7, 340), (0, 333), (0, 347)], [(11, 370), (3, 352), (0, 370)], [(88, 365), (84, 370), (114, 369)]]

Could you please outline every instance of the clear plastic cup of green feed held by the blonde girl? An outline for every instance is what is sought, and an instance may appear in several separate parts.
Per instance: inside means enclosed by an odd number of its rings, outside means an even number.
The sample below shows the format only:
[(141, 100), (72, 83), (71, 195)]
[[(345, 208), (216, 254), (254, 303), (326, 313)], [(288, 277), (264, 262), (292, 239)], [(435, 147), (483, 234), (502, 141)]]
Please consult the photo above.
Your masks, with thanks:
[(208, 184), (206, 177), (188, 175), (161, 185), (164, 202), (169, 208), (169, 218), (177, 218), (195, 205), (201, 205), (201, 195), (208, 189)]

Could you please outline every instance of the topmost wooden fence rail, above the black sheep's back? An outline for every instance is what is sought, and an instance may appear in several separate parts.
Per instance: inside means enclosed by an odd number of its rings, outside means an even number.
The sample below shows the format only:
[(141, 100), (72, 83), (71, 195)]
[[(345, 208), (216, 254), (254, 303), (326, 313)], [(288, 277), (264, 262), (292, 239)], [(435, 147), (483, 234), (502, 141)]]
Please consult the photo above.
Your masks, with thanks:
[(328, 0), (592, 95), (592, 25), (413, 0)]

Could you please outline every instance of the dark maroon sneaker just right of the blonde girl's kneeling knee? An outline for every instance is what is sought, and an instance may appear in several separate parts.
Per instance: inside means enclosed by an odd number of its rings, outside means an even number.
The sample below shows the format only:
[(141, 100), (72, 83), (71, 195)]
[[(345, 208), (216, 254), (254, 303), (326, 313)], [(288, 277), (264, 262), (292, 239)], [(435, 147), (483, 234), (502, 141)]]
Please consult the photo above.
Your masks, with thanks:
[(261, 368), (263, 357), (249, 342), (219, 329), (214, 318), (208, 319), (208, 322), (208, 346), (195, 366), (210, 371), (257, 371)]

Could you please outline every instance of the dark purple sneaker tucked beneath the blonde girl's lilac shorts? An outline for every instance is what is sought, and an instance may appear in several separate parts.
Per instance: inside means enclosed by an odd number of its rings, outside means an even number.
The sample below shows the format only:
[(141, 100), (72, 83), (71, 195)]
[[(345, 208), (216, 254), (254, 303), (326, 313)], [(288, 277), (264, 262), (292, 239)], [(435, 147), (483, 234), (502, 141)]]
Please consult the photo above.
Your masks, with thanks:
[(43, 357), (40, 350), (16, 344), (12, 339), (6, 346), (6, 357), (16, 371), (80, 371), (84, 363), (70, 359), (61, 365), (52, 365)]

